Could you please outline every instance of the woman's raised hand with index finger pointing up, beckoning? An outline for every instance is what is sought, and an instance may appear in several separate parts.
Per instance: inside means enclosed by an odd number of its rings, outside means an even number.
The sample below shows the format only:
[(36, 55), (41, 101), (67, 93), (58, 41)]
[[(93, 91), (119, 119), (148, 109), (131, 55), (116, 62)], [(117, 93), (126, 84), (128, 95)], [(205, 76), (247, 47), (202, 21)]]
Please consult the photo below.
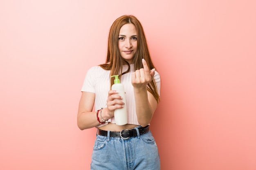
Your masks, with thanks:
[(149, 70), (147, 62), (142, 59), (143, 68), (132, 73), (132, 86), (137, 89), (145, 88), (155, 75), (155, 68)]

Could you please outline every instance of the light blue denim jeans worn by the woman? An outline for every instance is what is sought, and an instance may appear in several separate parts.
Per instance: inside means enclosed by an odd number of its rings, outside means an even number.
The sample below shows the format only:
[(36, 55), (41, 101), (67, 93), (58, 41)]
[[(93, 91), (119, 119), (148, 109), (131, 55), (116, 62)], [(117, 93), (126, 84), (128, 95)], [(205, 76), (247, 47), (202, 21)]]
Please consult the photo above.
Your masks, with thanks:
[[(139, 134), (138, 128), (137, 133)], [(91, 170), (160, 170), (157, 145), (149, 131), (122, 139), (97, 135), (92, 152)]]

